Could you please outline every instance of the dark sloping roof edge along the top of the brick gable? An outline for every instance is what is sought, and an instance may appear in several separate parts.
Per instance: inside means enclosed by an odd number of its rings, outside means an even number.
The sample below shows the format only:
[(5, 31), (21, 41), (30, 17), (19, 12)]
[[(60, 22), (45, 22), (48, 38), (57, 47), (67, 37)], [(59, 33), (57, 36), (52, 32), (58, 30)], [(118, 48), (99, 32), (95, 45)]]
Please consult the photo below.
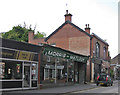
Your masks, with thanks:
[(70, 25), (74, 26), (76, 29), (78, 29), (79, 31), (85, 33), (86, 35), (88, 35), (89, 37), (92, 38), (92, 36), (91, 36), (89, 33), (85, 32), (84, 30), (82, 30), (81, 28), (79, 28), (78, 26), (76, 26), (75, 24), (71, 23), (70, 21), (65, 21), (65, 22), (64, 22), (60, 27), (58, 27), (52, 34), (50, 34), (50, 35), (45, 39), (45, 41), (47, 41), (51, 36), (53, 36), (56, 32), (58, 32), (58, 31), (59, 31), (64, 25), (66, 25), (66, 24), (70, 24)]

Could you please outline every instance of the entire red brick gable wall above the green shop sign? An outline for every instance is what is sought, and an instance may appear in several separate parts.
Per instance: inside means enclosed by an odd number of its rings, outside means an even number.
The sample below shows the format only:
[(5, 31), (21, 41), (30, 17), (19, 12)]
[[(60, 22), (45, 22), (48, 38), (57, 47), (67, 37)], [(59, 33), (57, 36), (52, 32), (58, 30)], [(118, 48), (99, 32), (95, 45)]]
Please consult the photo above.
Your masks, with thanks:
[(48, 39), (48, 43), (56, 43), (57, 47), (75, 53), (90, 55), (90, 37), (70, 24), (66, 24)]

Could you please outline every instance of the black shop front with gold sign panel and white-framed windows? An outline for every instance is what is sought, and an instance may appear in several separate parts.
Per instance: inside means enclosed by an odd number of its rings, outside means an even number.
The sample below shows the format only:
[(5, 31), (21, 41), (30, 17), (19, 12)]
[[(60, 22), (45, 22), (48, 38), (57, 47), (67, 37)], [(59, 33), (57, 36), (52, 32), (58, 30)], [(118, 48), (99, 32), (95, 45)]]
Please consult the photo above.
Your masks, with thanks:
[(37, 88), (40, 47), (7, 39), (0, 43), (0, 90)]

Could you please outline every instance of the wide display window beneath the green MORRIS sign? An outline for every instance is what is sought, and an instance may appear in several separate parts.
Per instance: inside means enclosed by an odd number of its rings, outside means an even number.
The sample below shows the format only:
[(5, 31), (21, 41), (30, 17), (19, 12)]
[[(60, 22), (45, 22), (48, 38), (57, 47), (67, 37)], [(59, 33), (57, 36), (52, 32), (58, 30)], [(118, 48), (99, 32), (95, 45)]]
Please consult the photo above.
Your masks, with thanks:
[(71, 60), (43, 55), (42, 66), (42, 83), (74, 82), (74, 63)]

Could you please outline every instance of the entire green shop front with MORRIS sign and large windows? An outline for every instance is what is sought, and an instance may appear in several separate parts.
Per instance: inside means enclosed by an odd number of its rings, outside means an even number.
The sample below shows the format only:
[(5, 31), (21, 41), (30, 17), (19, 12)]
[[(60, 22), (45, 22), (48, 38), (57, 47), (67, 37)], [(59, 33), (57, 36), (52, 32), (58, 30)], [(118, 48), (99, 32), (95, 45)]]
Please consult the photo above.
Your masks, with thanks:
[(84, 83), (88, 56), (45, 45), (41, 55), (40, 81), (44, 85)]

